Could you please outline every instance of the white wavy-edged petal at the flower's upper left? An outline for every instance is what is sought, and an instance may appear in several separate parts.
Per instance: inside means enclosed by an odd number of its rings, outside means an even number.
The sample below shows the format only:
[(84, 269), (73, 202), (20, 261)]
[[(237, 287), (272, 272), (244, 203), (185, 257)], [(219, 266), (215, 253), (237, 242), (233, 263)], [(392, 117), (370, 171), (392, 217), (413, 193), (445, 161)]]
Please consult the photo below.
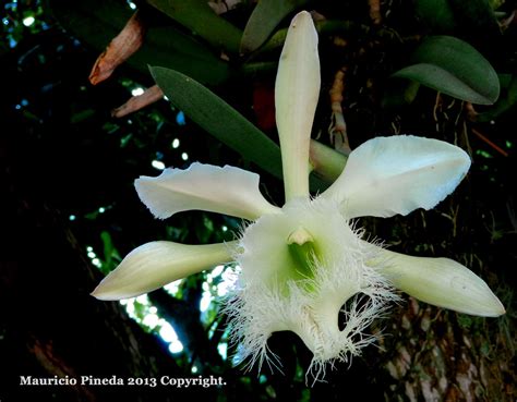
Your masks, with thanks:
[(142, 202), (157, 218), (200, 209), (256, 219), (279, 208), (270, 205), (258, 190), (258, 174), (231, 166), (192, 163), (187, 170), (166, 169), (157, 178), (135, 181)]

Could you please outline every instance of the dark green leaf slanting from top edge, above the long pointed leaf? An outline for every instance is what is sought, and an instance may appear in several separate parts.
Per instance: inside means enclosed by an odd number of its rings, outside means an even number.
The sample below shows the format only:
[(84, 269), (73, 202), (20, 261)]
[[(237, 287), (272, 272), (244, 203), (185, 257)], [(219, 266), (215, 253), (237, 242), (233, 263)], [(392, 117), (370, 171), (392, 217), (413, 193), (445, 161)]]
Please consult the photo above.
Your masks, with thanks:
[(238, 53), (242, 31), (217, 15), (209, 8), (207, 1), (147, 0), (147, 2), (201, 36), (215, 48)]

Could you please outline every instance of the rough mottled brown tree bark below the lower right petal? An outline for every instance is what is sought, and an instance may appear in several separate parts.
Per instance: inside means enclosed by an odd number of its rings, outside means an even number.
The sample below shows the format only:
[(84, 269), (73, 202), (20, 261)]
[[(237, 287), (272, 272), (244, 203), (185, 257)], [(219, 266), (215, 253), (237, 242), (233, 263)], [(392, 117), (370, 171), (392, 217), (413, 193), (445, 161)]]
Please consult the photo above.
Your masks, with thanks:
[(515, 401), (505, 319), (459, 315), (411, 299), (388, 332), (386, 401)]

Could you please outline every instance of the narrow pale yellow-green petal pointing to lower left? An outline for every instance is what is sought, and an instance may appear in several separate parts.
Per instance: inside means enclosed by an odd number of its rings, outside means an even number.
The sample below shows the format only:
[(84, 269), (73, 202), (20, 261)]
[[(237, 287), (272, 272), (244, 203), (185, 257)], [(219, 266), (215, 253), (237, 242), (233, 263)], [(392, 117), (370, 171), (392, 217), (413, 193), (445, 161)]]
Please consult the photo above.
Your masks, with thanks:
[(231, 261), (236, 243), (146, 243), (128, 254), (92, 295), (99, 300), (121, 300), (154, 291), (178, 279)]

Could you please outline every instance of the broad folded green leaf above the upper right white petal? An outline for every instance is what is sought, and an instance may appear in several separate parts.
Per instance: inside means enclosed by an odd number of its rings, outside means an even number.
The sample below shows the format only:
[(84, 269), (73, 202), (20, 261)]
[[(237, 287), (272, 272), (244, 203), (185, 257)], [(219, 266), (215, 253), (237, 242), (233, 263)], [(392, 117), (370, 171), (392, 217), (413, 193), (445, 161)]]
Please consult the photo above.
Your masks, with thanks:
[(431, 36), (414, 50), (412, 65), (393, 74), (455, 98), (492, 105), (500, 95), (497, 74), (472, 46), (452, 36)]

